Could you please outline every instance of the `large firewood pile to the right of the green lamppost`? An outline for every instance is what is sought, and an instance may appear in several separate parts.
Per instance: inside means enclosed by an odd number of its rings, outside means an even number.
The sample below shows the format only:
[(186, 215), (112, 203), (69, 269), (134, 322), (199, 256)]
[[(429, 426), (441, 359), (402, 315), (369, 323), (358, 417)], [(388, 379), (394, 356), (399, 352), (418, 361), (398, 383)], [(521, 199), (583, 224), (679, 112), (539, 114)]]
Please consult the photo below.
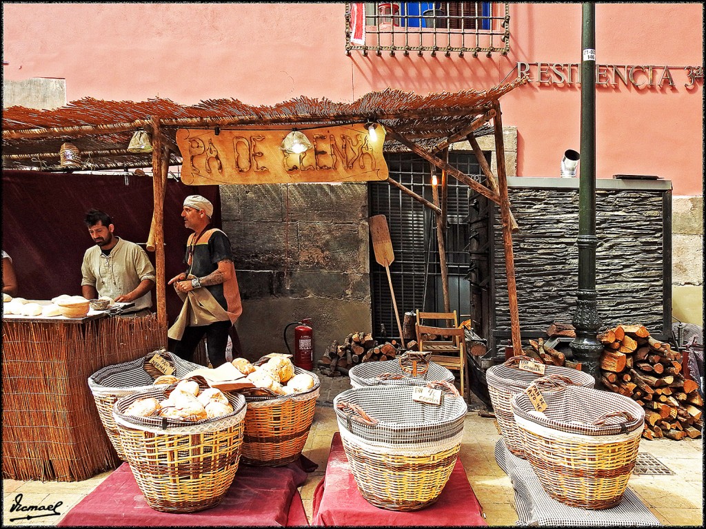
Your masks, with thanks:
[(604, 387), (645, 408), (642, 437), (701, 437), (703, 399), (697, 382), (681, 374), (681, 353), (642, 325), (618, 325), (598, 338)]

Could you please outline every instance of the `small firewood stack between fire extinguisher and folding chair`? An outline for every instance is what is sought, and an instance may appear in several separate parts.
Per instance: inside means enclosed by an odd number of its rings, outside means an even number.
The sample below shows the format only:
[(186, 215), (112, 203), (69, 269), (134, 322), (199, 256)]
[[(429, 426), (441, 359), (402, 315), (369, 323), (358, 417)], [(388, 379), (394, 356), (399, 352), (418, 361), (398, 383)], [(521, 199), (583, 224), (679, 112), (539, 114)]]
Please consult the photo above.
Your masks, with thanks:
[(397, 353), (396, 340), (380, 344), (370, 333), (352, 332), (345, 337), (343, 343), (334, 341), (326, 348), (321, 360), (318, 361), (318, 367), (323, 375), (340, 377), (348, 375), (348, 370), (354, 365), (392, 360)]

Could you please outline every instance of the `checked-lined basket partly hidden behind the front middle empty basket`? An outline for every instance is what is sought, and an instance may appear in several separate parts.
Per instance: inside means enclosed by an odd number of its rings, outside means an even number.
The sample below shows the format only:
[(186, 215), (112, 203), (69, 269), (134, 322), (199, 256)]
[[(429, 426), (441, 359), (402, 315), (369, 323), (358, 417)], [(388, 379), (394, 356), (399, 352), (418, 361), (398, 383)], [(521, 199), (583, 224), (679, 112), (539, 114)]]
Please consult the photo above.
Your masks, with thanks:
[(431, 353), (407, 351), (395, 360), (357, 364), (348, 372), (351, 386), (424, 386), (430, 380), (453, 384), (453, 374), (442, 365), (431, 362), (430, 357)]

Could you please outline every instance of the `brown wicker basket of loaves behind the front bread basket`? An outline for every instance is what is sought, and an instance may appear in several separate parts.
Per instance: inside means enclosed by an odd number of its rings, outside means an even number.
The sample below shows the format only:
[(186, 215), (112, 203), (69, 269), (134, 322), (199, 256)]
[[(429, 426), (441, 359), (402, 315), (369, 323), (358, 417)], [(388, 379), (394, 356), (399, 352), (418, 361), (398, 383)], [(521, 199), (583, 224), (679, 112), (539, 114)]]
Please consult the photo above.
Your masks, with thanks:
[(263, 356), (232, 364), (255, 387), (241, 390), (248, 404), (243, 463), (282, 466), (299, 458), (309, 436), (321, 381), (292, 364), (287, 355)]

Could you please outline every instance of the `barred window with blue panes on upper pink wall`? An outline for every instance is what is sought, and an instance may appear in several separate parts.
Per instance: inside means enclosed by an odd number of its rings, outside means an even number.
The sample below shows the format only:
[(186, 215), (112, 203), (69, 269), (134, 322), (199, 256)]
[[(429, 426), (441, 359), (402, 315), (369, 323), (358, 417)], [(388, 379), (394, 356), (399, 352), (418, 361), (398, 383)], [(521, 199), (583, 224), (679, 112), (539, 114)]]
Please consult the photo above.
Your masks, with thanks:
[(346, 4), (346, 54), (431, 51), (478, 56), (510, 51), (507, 2), (366, 2)]

